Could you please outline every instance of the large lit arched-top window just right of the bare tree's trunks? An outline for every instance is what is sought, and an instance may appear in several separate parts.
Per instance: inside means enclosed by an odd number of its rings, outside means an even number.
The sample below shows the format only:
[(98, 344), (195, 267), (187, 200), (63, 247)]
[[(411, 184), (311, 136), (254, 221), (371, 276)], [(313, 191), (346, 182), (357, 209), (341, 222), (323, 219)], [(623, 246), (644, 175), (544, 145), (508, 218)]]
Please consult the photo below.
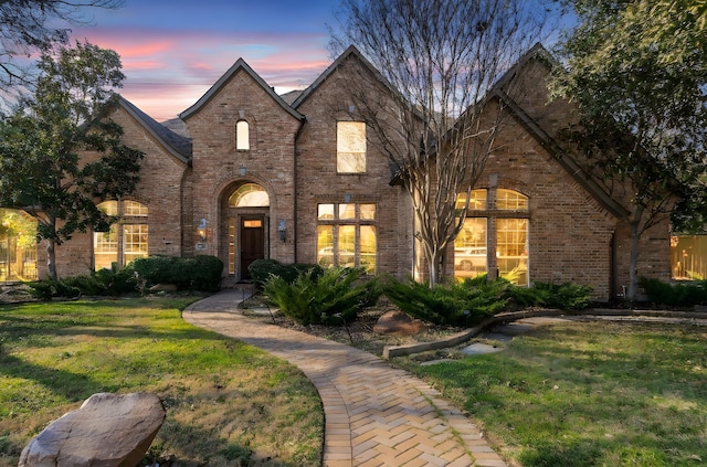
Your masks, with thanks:
[[(495, 199), (493, 205), (489, 199)], [(456, 208), (463, 209), (465, 201), (466, 193), (460, 194)], [(528, 285), (528, 198), (514, 190), (474, 190), (468, 209), (475, 215), (482, 211), (484, 216), (466, 217), (454, 240), (455, 277), (489, 273)]]

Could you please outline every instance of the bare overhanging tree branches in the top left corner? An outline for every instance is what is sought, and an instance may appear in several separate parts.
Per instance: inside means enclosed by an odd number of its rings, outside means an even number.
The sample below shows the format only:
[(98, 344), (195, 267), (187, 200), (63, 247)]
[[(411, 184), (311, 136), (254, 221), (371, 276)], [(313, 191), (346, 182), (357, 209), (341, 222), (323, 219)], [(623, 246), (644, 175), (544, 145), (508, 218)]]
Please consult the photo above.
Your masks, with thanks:
[(0, 1), (0, 91), (29, 82), (29, 66), (18, 59), (46, 53), (68, 42), (63, 24), (87, 23), (88, 8), (114, 9), (123, 0), (3, 0)]

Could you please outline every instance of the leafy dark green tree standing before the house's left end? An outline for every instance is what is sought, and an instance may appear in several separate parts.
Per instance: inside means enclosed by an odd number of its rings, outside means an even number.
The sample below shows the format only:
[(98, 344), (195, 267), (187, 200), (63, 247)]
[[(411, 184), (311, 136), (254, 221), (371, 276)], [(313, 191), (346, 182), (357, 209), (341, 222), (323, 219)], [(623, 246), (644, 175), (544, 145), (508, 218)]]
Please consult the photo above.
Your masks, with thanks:
[[(129, 194), (143, 153), (125, 146), (110, 113), (124, 75), (120, 59), (89, 43), (44, 54), (31, 100), (0, 126), (0, 205), (38, 221), (48, 247), (49, 277), (56, 279), (54, 247), (113, 219), (96, 201)], [(83, 158), (80, 158), (82, 151)]]

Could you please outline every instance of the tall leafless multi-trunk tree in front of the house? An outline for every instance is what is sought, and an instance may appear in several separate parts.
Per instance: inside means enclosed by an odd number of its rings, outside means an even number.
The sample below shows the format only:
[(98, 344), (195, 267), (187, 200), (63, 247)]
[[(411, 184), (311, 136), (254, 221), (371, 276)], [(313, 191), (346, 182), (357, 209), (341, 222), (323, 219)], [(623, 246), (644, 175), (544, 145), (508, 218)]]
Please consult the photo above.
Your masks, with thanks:
[(502, 106), (484, 114), (484, 96), (541, 38), (547, 13), (519, 0), (341, 2), (331, 46), (354, 44), (388, 85), (376, 92), (359, 75), (347, 87), (412, 199), (431, 285), (444, 276), (446, 247), (503, 120)]

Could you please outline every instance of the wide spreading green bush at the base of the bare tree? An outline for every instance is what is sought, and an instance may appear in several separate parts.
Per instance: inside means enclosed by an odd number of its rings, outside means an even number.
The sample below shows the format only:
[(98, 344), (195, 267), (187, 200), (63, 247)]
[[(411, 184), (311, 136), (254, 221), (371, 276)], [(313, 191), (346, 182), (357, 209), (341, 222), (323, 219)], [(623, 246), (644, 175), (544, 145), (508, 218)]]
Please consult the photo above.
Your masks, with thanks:
[(486, 276), (433, 287), (410, 278), (389, 280), (384, 294), (413, 318), (440, 326), (466, 327), (505, 310), (509, 287), (505, 279), (487, 282)]

